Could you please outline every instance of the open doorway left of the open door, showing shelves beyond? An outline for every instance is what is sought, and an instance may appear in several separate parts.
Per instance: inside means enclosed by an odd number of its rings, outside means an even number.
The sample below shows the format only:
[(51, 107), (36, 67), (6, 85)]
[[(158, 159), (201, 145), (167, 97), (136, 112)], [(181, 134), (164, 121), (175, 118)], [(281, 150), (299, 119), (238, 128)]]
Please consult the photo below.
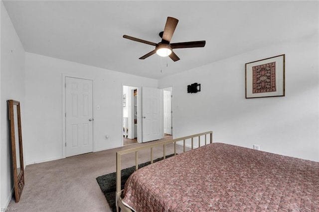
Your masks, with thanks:
[(123, 145), (138, 142), (138, 88), (123, 85)]

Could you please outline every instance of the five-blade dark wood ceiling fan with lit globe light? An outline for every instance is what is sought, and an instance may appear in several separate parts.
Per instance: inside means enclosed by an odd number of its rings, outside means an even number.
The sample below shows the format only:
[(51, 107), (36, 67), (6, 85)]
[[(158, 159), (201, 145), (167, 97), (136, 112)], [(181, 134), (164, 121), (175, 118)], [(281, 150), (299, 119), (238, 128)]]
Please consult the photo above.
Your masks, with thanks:
[(139, 38), (131, 37), (128, 35), (123, 35), (123, 38), (127, 38), (133, 41), (149, 44), (155, 46), (155, 50), (149, 52), (148, 54), (142, 56), (141, 60), (144, 60), (151, 55), (157, 53), (161, 57), (169, 57), (174, 62), (178, 61), (178, 56), (173, 52), (173, 49), (182, 49), (182, 48), (194, 48), (194, 47), (204, 47), (206, 41), (190, 41), (190, 42), (181, 42), (181, 43), (170, 43), (170, 40), (173, 36), (175, 28), (177, 26), (178, 19), (173, 17), (167, 17), (165, 28), (163, 32), (160, 32), (161, 42), (160, 43), (153, 43), (150, 41), (142, 40)]

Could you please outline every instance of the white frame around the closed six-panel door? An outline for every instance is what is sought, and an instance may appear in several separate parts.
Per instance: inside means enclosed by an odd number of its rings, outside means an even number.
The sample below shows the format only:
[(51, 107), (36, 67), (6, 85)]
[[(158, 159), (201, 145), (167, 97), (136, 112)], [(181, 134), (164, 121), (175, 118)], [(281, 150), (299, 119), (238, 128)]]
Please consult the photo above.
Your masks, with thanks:
[[(95, 101), (94, 101), (94, 80), (92, 78), (86, 77), (86, 76), (75, 76), (75, 75), (69, 75), (69, 74), (64, 74), (62, 73), (62, 157), (65, 158), (66, 157), (66, 146), (65, 146), (65, 142), (66, 142), (66, 117), (65, 117), (65, 107), (66, 107), (66, 96), (65, 96), (65, 77), (71, 77), (71, 78), (79, 78), (79, 79), (86, 79), (86, 80), (92, 80), (92, 117), (94, 120), (94, 105), (95, 105)], [(123, 112), (122, 112), (123, 113)], [(95, 152), (95, 141), (94, 141), (94, 132), (95, 132), (95, 125), (94, 122), (93, 124), (93, 132), (92, 132), (92, 136), (93, 136), (93, 152)]]

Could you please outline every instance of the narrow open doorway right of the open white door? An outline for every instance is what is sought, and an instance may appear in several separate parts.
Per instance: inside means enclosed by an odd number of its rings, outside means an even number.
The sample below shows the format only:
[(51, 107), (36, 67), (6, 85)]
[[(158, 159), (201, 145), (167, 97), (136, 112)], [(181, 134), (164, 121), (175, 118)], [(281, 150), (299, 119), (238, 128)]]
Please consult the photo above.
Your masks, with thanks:
[(163, 132), (165, 137), (172, 137), (173, 135), (173, 126), (172, 126), (172, 97), (173, 97), (173, 88), (166, 87), (163, 88)]

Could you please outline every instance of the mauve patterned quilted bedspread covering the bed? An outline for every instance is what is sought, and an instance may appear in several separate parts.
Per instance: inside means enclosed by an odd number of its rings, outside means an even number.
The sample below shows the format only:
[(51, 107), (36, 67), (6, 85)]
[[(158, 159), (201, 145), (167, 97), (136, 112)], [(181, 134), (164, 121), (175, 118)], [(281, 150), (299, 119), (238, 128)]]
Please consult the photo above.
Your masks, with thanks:
[(136, 212), (319, 212), (319, 162), (211, 143), (134, 172)]

